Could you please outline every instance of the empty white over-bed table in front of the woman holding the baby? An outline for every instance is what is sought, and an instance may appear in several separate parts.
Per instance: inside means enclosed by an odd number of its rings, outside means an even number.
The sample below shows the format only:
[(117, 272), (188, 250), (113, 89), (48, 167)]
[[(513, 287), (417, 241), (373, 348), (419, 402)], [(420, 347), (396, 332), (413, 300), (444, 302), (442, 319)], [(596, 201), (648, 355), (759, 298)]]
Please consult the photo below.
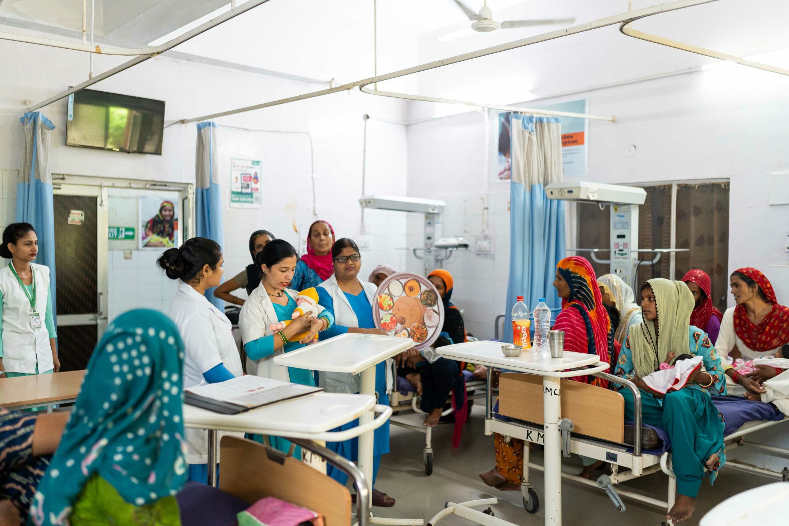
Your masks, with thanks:
[[(361, 375), (360, 393), (375, 396), (376, 365), (407, 351), (413, 347), (410, 338), (397, 336), (377, 336), (370, 334), (346, 333), (308, 345), (297, 351), (275, 356), (274, 363), (297, 369), (320, 370), (333, 373)], [(386, 406), (391, 414), (391, 408)], [(365, 432), (359, 436), (359, 468), (365, 479), (372, 481), (372, 439), (373, 430), (366, 426), (372, 419), (371, 413), (361, 415), (359, 425)], [(358, 436), (359, 433), (353, 436)], [(350, 437), (349, 437), (350, 438)], [(347, 440), (335, 439), (334, 441)], [(372, 487), (372, 484), (371, 484)], [(369, 494), (372, 504), (372, 491)], [(360, 495), (361, 498), (361, 495)], [(372, 517), (373, 524), (422, 524), (422, 520), (385, 519)]]

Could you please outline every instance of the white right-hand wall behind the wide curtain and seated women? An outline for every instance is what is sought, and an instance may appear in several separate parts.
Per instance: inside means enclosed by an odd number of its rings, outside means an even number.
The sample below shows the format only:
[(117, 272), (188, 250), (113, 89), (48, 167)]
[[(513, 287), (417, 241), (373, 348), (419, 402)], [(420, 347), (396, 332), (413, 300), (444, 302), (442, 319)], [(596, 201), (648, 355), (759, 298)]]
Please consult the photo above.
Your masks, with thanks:
[[(785, 77), (734, 66), (590, 92), (589, 111), (616, 115), (617, 120), (589, 123), (586, 178), (622, 184), (729, 179), (727, 268), (761, 269), (779, 301), (789, 304), (789, 253), (783, 244), (789, 205), (768, 205), (768, 173), (789, 170), (787, 87)], [(495, 261), (455, 254), (446, 267), (454, 273), (453, 299), (466, 311), (469, 330), (489, 338), (507, 291), (509, 187), (492, 181), (481, 148), (484, 137), (484, 121), (477, 112), (409, 126), (408, 190), (414, 197), (446, 199), (445, 235), (463, 232), (469, 238), (481, 229), (476, 203), (488, 191)], [(627, 145), (636, 146), (635, 156), (625, 156)], [(409, 221), (409, 240), (417, 239), (421, 224)], [(409, 260), (409, 269), (419, 268)], [(789, 447), (785, 430), (766, 431), (753, 440)], [(732, 456), (776, 471), (785, 465), (785, 460), (747, 449)]]

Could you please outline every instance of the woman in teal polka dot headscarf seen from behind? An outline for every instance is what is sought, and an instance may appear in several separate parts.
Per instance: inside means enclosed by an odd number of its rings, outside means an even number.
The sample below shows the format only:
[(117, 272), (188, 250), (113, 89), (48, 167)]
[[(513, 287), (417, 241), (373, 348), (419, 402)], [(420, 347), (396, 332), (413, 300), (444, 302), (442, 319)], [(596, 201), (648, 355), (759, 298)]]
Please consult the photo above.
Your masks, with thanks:
[(180, 526), (183, 359), (163, 314), (132, 310), (107, 327), (28, 524)]

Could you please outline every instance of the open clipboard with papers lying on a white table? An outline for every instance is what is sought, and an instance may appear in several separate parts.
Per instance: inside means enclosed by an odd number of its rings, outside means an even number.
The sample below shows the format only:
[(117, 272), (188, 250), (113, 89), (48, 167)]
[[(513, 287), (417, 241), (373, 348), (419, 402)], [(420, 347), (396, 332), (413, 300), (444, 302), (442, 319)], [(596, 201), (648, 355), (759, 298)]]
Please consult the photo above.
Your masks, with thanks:
[(322, 388), (311, 385), (290, 384), (286, 381), (246, 375), (215, 384), (200, 384), (184, 389), (184, 400), (189, 405), (208, 411), (235, 415), (321, 391)]

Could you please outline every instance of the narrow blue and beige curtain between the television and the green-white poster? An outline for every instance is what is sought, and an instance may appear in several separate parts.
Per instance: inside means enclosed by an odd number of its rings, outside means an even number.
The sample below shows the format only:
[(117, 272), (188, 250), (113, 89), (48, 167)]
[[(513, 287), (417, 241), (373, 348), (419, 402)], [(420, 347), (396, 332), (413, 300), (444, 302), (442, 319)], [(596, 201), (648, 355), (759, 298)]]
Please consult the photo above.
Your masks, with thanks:
[[(219, 169), (216, 161), (216, 123), (197, 123), (195, 164), (195, 234), (213, 239), (224, 250), (222, 230), (222, 192), (219, 188)], [(224, 302), (214, 297), (214, 289), (205, 293), (208, 301), (224, 312)]]

